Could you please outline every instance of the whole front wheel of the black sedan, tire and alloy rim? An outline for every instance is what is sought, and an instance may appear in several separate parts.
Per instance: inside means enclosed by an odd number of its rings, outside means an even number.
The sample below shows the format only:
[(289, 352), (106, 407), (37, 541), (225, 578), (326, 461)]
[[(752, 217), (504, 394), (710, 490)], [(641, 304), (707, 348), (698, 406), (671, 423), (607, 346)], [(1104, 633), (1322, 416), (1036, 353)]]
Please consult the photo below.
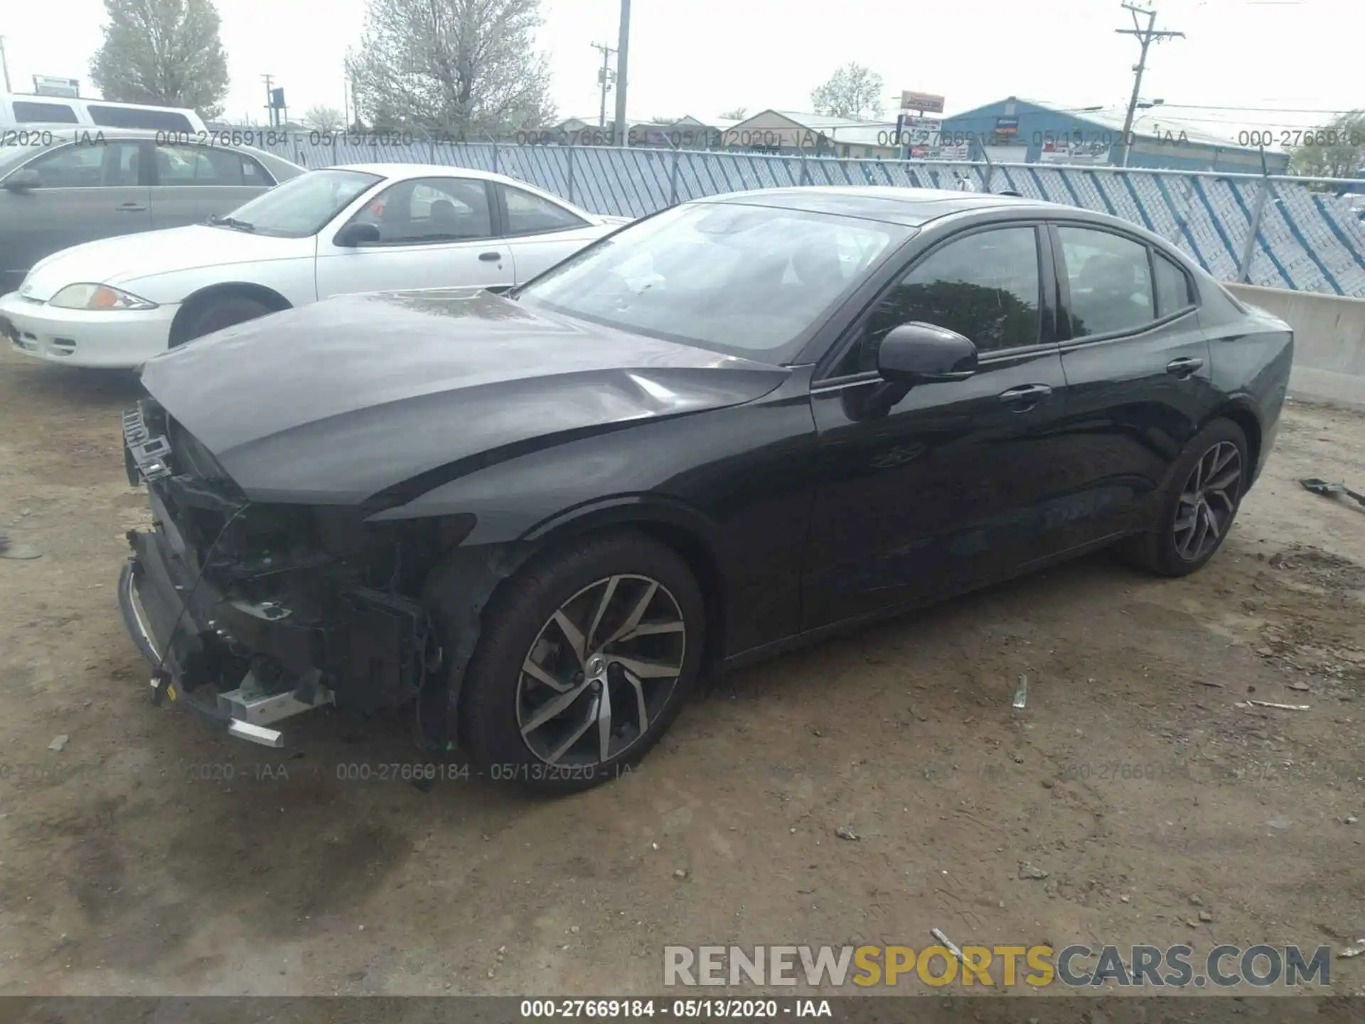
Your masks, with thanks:
[(541, 556), (485, 612), (460, 702), (476, 767), (549, 793), (618, 777), (677, 717), (704, 629), (687, 564), (643, 534)]

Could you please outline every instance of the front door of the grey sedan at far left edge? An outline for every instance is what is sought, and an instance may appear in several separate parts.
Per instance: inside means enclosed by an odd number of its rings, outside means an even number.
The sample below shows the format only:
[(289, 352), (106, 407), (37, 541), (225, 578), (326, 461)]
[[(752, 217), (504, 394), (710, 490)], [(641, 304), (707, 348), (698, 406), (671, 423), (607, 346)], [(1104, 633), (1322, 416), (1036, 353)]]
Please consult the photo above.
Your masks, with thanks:
[(5, 180), (33, 171), (38, 186), (0, 188), (0, 294), (18, 288), (46, 255), (150, 229), (149, 147), (91, 134), (12, 169)]

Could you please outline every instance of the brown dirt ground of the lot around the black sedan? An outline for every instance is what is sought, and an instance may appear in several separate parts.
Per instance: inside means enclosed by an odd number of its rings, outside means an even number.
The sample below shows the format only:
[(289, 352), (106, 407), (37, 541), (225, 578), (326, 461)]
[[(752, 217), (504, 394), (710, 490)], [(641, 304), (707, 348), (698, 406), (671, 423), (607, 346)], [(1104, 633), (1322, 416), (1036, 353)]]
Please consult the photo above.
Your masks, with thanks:
[[(1293, 404), (1194, 578), (1096, 557), (770, 662), (542, 801), (339, 780), (422, 760), (405, 720), (269, 751), (149, 703), (113, 586), (134, 392), (0, 354), (0, 530), (41, 552), (0, 560), (0, 991), (648, 994), (666, 943), (1365, 937), (1365, 511), (1295, 482), (1365, 485), (1365, 418)], [(1331, 973), (1361, 991), (1365, 957)]]

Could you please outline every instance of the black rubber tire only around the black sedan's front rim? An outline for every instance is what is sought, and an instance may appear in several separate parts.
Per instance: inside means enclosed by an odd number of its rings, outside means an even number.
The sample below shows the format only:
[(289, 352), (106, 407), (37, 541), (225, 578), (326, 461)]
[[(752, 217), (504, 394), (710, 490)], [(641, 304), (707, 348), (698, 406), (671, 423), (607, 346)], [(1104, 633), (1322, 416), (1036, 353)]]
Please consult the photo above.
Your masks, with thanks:
[[(681, 670), (652, 717), (647, 715), (647, 728), (636, 730), (624, 750), (606, 760), (598, 758), (595, 765), (565, 760), (551, 766), (521, 736), (521, 666), (561, 606), (613, 576), (648, 578), (662, 584), (659, 593), (670, 598), (669, 606), (676, 606), (685, 627), (680, 640), (682, 654), (677, 662)], [(622, 597), (627, 597), (624, 586)], [(584, 599), (591, 598), (592, 594), (584, 595)], [(485, 778), (515, 781), (541, 793), (572, 793), (617, 778), (650, 751), (681, 710), (700, 672), (704, 628), (704, 601), (692, 572), (672, 549), (644, 534), (595, 534), (536, 556), (489, 602), (478, 647), (465, 672), (459, 733), (468, 745), (475, 769)], [(587, 668), (584, 662), (576, 679), (586, 681)], [(609, 689), (620, 684), (620, 676), (616, 679), (616, 684), (607, 684)], [(599, 698), (590, 691), (586, 699), (591, 706), (591, 700)], [(583, 709), (575, 705), (575, 710)], [(622, 714), (628, 710), (625, 706)], [(565, 732), (572, 733), (572, 729)], [(588, 736), (587, 741), (591, 740)], [(609, 751), (610, 745), (607, 741)]]

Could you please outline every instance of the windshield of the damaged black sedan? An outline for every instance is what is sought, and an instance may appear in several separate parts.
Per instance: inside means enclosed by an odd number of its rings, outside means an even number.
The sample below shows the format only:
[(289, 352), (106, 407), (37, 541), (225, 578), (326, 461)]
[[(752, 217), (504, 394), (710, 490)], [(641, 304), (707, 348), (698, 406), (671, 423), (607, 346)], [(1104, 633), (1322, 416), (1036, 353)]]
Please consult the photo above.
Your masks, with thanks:
[(771, 206), (678, 206), (591, 246), (519, 302), (782, 363), (913, 228)]

